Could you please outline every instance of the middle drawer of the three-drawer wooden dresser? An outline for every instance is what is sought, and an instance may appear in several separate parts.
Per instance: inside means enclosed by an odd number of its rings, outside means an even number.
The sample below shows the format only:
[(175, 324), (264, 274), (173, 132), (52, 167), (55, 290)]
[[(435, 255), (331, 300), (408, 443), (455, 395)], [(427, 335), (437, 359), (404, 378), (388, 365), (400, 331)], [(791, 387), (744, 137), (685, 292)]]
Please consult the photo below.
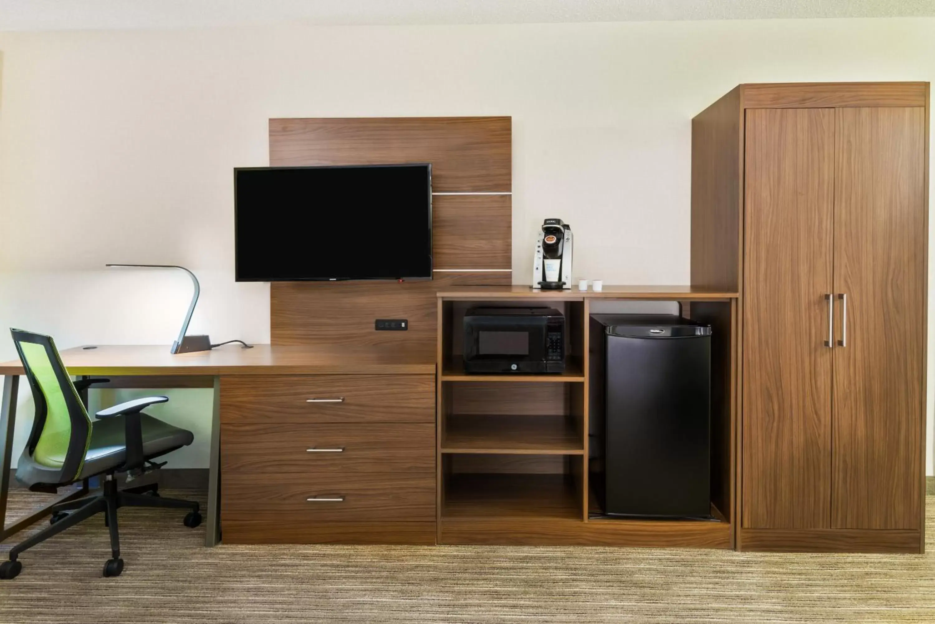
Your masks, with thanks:
[(435, 472), (435, 425), (224, 423), (223, 473)]

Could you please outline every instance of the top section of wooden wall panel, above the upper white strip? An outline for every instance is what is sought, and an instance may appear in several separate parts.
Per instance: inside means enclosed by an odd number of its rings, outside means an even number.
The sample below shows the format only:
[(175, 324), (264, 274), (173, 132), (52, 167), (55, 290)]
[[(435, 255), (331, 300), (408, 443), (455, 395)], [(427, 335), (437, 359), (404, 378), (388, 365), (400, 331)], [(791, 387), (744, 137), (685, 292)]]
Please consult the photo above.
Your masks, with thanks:
[(435, 192), (511, 191), (510, 117), (270, 119), (269, 165), (432, 163)]

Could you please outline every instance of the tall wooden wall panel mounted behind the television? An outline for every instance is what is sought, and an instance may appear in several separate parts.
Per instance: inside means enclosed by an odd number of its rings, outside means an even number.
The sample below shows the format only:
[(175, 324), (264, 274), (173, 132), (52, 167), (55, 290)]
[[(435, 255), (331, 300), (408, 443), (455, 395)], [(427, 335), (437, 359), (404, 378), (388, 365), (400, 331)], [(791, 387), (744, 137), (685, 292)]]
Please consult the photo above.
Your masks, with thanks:
[[(511, 145), (510, 117), (269, 120), (270, 166), (428, 162), (433, 194), (510, 193)], [(434, 360), (435, 293), (512, 282), (512, 215), (510, 195), (433, 195), (432, 203), (436, 279), (273, 283), (271, 342), (393, 345)], [(377, 318), (409, 319), (410, 327), (376, 331)]]

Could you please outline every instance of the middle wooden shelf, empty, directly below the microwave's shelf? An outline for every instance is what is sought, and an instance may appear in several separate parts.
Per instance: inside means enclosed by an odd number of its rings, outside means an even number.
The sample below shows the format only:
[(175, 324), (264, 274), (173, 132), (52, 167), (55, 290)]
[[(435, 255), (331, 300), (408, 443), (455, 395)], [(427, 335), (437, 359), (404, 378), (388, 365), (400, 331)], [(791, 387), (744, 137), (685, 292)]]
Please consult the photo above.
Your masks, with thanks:
[(453, 414), (445, 421), (442, 453), (584, 455), (570, 416)]

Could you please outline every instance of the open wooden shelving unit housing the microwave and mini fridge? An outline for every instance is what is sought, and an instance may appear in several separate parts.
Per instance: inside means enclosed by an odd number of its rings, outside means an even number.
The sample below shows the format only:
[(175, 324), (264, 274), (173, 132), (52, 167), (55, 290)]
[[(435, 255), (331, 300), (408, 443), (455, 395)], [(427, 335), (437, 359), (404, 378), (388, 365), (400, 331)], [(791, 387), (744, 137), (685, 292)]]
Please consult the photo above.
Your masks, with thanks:
[[(732, 546), (736, 293), (687, 286), (610, 286), (602, 293), (491, 286), (439, 292), (438, 297), (439, 544)], [(595, 298), (678, 301), (683, 313), (717, 327), (719, 348), (712, 350), (720, 389), (713, 393), (719, 413), (712, 410), (714, 520), (594, 517), (587, 352)], [(464, 315), (469, 307), (487, 304), (563, 312), (565, 372), (466, 373)]]

